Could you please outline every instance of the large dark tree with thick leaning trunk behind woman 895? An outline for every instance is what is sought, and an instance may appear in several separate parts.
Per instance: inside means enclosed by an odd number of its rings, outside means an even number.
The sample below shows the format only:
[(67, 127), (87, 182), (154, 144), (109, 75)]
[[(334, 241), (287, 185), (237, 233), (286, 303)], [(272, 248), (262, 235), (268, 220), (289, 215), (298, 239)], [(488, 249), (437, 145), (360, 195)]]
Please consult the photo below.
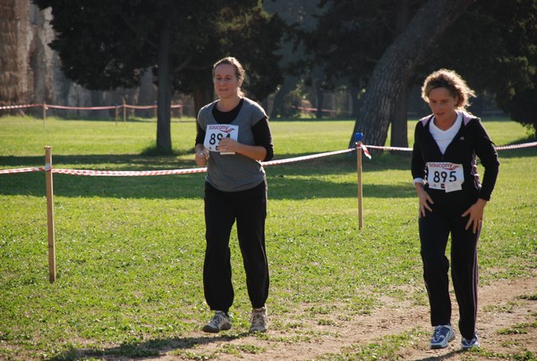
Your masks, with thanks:
[(304, 43), (327, 84), (347, 82), (362, 90), (354, 132), (383, 144), (391, 124), (392, 145), (406, 146), (408, 90), (440, 67), (455, 69), (476, 90), (493, 94), (512, 116), (521, 112), (515, 104), (531, 97), (535, 87), (536, 4), (321, 0), (326, 11)]

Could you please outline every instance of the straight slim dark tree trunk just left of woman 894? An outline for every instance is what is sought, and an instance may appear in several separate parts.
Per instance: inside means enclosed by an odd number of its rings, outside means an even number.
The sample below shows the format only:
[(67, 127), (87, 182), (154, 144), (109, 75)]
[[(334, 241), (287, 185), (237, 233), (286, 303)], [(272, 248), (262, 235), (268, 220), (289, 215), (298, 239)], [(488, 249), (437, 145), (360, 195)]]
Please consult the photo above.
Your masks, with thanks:
[(163, 153), (172, 152), (170, 129), (172, 106), (171, 34), (171, 15), (167, 14), (160, 28), (158, 43), (157, 149)]

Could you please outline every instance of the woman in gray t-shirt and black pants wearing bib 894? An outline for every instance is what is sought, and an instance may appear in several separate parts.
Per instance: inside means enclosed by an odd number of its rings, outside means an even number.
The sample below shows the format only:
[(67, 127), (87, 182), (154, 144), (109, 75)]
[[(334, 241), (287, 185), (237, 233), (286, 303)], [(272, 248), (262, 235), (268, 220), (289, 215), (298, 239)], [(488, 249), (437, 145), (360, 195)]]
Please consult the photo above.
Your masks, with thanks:
[(243, 66), (234, 57), (219, 60), (213, 66), (218, 99), (200, 109), (196, 122), (195, 160), (207, 167), (203, 289), (215, 312), (203, 326), (206, 332), (231, 328), (229, 237), (235, 221), (252, 307), (250, 331), (268, 327), (267, 182), (261, 161), (272, 159), (274, 151), (268, 117), (262, 107), (243, 97), (243, 79)]

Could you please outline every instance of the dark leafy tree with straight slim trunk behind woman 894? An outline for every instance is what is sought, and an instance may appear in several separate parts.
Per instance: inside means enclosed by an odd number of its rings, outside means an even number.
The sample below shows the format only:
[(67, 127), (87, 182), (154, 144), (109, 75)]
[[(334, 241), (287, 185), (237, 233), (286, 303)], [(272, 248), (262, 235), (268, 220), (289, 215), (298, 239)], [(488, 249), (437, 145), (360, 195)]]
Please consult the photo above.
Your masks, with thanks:
[[(210, 69), (223, 56), (245, 65), (245, 90), (264, 99), (281, 82), (277, 69), (283, 25), (258, 0), (33, 0), (52, 8), (50, 44), (65, 75), (90, 90), (140, 83), (153, 69), (158, 83), (157, 148), (172, 150), (173, 91), (212, 100)], [(261, 81), (262, 79), (262, 81)]]

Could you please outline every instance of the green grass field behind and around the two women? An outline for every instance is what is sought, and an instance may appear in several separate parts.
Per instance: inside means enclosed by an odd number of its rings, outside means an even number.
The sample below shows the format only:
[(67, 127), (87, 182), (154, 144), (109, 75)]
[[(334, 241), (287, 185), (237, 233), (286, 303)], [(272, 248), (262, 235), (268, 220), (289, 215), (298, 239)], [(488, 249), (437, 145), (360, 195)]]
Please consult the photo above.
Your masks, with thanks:
[[(484, 124), (497, 145), (534, 140), (514, 122)], [(275, 121), (276, 159), (345, 150), (353, 125)], [(45, 145), (55, 168), (194, 168), (194, 133), (192, 119), (175, 121), (176, 155), (151, 157), (144, 151), (155, 142), (154, 122), (2, 117), (0, 168), (43, 166)], [(482, 284), (528, 276), (537, 265), (537, 149), (499, 156), (480, 244)], [(277, 341), (322, 337), (298, 331), (293, 314), (304, 307), (322, 322), (334, 307), (348, 317), (370, 313), (383, 296), (427, 303), (409, 168), (410, 152), (363, 159), (361, 230), (353, 157), (266, 168), (268, 307), (271, 327), (288, 331)], [(204, 176), (55, 174), (57, 279), (50, 284), (45, 174), (0, 175), (0, 359), (119, 359), (170, 349), (177, 357), (217, 357), (197, 353), (192, 338), (210, 317), (201, 287)], [(231, 248), (233, 337), (247, 330), (250, 305), (235, 236)]]

